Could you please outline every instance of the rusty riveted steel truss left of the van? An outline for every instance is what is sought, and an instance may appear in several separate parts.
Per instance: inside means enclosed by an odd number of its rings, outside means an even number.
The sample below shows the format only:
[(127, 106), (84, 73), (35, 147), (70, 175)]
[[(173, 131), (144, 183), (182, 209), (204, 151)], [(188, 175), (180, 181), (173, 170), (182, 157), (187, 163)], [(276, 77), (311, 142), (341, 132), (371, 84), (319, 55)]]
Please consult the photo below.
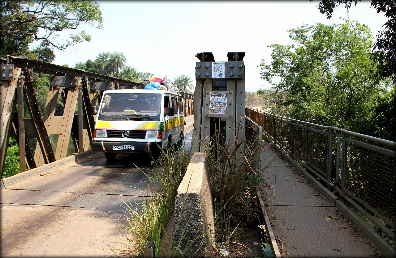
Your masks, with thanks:
[[(43, 113), (34, 93), (33, 70), (54, 76)], [(21, 171), (66, 157), (70, 138), (76, 152), (86, 151), (93, 141), (95, 116), (91, 114), (91, 106), (98, 104), (103, 90), (138, 89), (142, 86), (132, 81), (15, 56), (0, 59), (0, 79), (1, 176), (11, 132), (18, 139)], [(65, 107), (61, 116), (55, 112), (59, 95)], [(24, 117), (24, 103), (30, 118)], [(74, 115), (77, 104), (78, 115)], [(51, 135), (55, 135), (54, 150)], [(29, 138), (37, 139), (34, 152), (30, 149)]]

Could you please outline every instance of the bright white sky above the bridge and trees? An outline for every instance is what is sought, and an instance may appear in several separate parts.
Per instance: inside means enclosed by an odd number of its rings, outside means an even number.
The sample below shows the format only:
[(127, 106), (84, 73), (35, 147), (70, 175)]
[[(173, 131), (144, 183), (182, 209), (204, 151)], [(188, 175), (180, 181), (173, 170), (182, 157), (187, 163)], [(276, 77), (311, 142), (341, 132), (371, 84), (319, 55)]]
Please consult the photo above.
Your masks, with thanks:
[[(270, 85), (260, 78), (261, 59), (271, 62), (274, 43), (293, 43), (291, 28), (304, 23), (340, 23), (348, 17), (338, 7), (328, 20), (316, 4), (305, 1), (253, 2), (136, 2), (98, 1), (103, 12), (103, 29), (84, 27), (91, 42), (78, 43), (64, 52), (55, 51), (54, 64), (74, 66), (76, 62), (95, 60), (101, 52), (119, 51), (126, 65), (155, 77), (175, 78), (188, 75), (195, 85), (197, 53), (212, 52), (216, 61), (227, 61), (227, 52), (246, 52), (246, 91)], [(349, 18), (367, 24), (373, 36), (382, 30), (386, 18), (362, 1), (349, 9)], [(74, 32), (75, 33), (75, 32)]]

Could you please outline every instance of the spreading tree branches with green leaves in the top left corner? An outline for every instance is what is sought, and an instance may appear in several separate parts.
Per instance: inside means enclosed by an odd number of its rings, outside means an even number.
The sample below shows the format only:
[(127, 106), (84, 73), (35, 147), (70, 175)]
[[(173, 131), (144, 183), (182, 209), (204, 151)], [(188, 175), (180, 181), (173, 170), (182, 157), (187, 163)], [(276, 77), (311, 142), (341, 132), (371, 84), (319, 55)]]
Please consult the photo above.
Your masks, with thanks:
[(59, 32), (73, 30), (81, 24), (102, 28), (99, 4), (89, 0), (1, 1), (0, 56), (25, 55), (28, 44), (41, 41), (48, 49), (66, 49), (82, 41), (90, 41), (85, 31), (56, 40)]

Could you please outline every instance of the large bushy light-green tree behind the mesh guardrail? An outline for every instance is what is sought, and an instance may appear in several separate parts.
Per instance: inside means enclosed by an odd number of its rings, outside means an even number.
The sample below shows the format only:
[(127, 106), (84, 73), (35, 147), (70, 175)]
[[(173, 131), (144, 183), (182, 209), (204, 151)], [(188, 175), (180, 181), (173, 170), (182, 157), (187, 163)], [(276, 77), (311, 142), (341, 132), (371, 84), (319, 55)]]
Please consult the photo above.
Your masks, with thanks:
[(262, 60), (259, 65), (261, 77), (273, 85), (275, 111), (346, 129), (354, 121), (367, 120), (375, 96), (386, 92), (390, 83), (378, 84), (370, 73), (369, 28), (345, 20), (343, 24), (305, 24), (289, 32), (295, 45), (270, 45), (273, 61), (268, 65)]

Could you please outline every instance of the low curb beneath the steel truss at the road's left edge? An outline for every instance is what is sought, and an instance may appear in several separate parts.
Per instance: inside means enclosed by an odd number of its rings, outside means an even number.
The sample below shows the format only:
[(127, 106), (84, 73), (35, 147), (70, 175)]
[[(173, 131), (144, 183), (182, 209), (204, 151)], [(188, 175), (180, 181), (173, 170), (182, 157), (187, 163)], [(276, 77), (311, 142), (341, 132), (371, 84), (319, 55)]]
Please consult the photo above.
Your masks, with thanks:
[(60, 160), (51, 162), (49, 164), (46, 164), (44, 166), (38, 167), (38, 168), (33, 168), (28, 171), (13, 175), (11, 177), (6, 177), (1, 179), (1, 184), (0, 184), (0, 189), (6, 189), (9, 188), (11, 185), (14, 185), (16, 183), (19, 183), (21, 181), (30, 179), (40, 173), (49, 171), (54, 168), (59, 168), (61, 166), (65, 166), (66, 164), (74, 161), (78, 161), (80, 158), (84, 158), (88, 155), (92, 154), (92, 150), (88, 151), (83, 151), (82, 153), (78, 153), (76, 155), (72, 155), (66, 158), (62, 158)]

